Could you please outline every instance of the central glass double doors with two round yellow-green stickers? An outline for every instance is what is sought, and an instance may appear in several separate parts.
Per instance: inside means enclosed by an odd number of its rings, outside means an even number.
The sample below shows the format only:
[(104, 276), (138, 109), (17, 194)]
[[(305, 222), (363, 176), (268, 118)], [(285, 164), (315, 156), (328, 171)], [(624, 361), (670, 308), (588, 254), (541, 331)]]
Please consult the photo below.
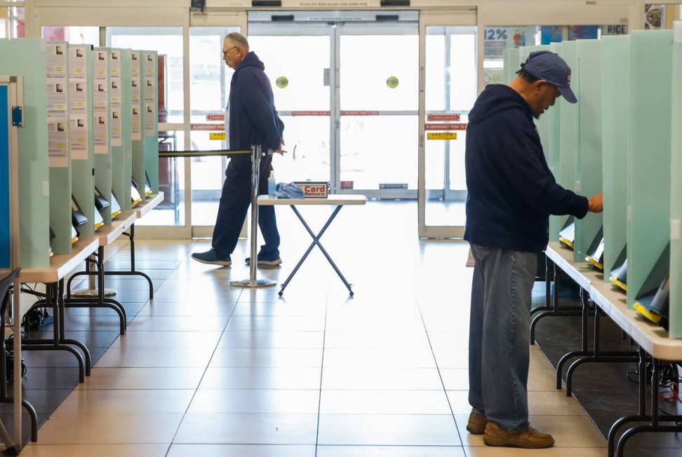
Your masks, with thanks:
[(278, 181), (417, 196), (418, 16), (382, 13), (249, 13), (249, 44), (285, 124)]

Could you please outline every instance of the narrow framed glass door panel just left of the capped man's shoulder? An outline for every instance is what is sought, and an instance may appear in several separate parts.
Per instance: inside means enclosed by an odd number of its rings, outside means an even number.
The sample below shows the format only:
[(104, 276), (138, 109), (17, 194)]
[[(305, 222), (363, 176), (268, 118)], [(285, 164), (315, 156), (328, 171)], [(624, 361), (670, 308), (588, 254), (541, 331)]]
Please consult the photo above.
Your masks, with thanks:
[(475, 15), (420, 15), (419, 236), (464, 236), (464, 145), (476, 100)]

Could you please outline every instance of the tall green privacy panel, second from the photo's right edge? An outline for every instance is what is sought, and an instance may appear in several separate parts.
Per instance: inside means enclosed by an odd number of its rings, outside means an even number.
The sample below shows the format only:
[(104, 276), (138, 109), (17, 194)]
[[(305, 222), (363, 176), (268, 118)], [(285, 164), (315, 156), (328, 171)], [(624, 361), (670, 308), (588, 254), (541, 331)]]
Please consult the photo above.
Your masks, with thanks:
[(670, 30), (631, 34), (629, 306), (670, 241), (672, 39)]

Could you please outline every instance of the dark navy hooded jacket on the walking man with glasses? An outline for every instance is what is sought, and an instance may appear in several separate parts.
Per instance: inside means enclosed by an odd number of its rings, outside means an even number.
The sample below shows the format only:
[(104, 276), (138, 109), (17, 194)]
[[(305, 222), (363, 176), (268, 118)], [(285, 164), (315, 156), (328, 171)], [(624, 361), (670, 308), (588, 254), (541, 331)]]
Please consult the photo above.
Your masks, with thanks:
[[(277, 149), (284, 124), (274, 107), (272, 86), (265, 76), (265, 65), (250, 52), (232, 74), (229, 85), (229, 149), (251, 149), (260, 144), (263, 151)], [(261, 161), (261, 180), (267, 180), (272, 156)], [(234, 156), (229, 168), (238, 174), (251, 173), (250, 156)], [(229, 172), (230, 170), (228, 170)]]

